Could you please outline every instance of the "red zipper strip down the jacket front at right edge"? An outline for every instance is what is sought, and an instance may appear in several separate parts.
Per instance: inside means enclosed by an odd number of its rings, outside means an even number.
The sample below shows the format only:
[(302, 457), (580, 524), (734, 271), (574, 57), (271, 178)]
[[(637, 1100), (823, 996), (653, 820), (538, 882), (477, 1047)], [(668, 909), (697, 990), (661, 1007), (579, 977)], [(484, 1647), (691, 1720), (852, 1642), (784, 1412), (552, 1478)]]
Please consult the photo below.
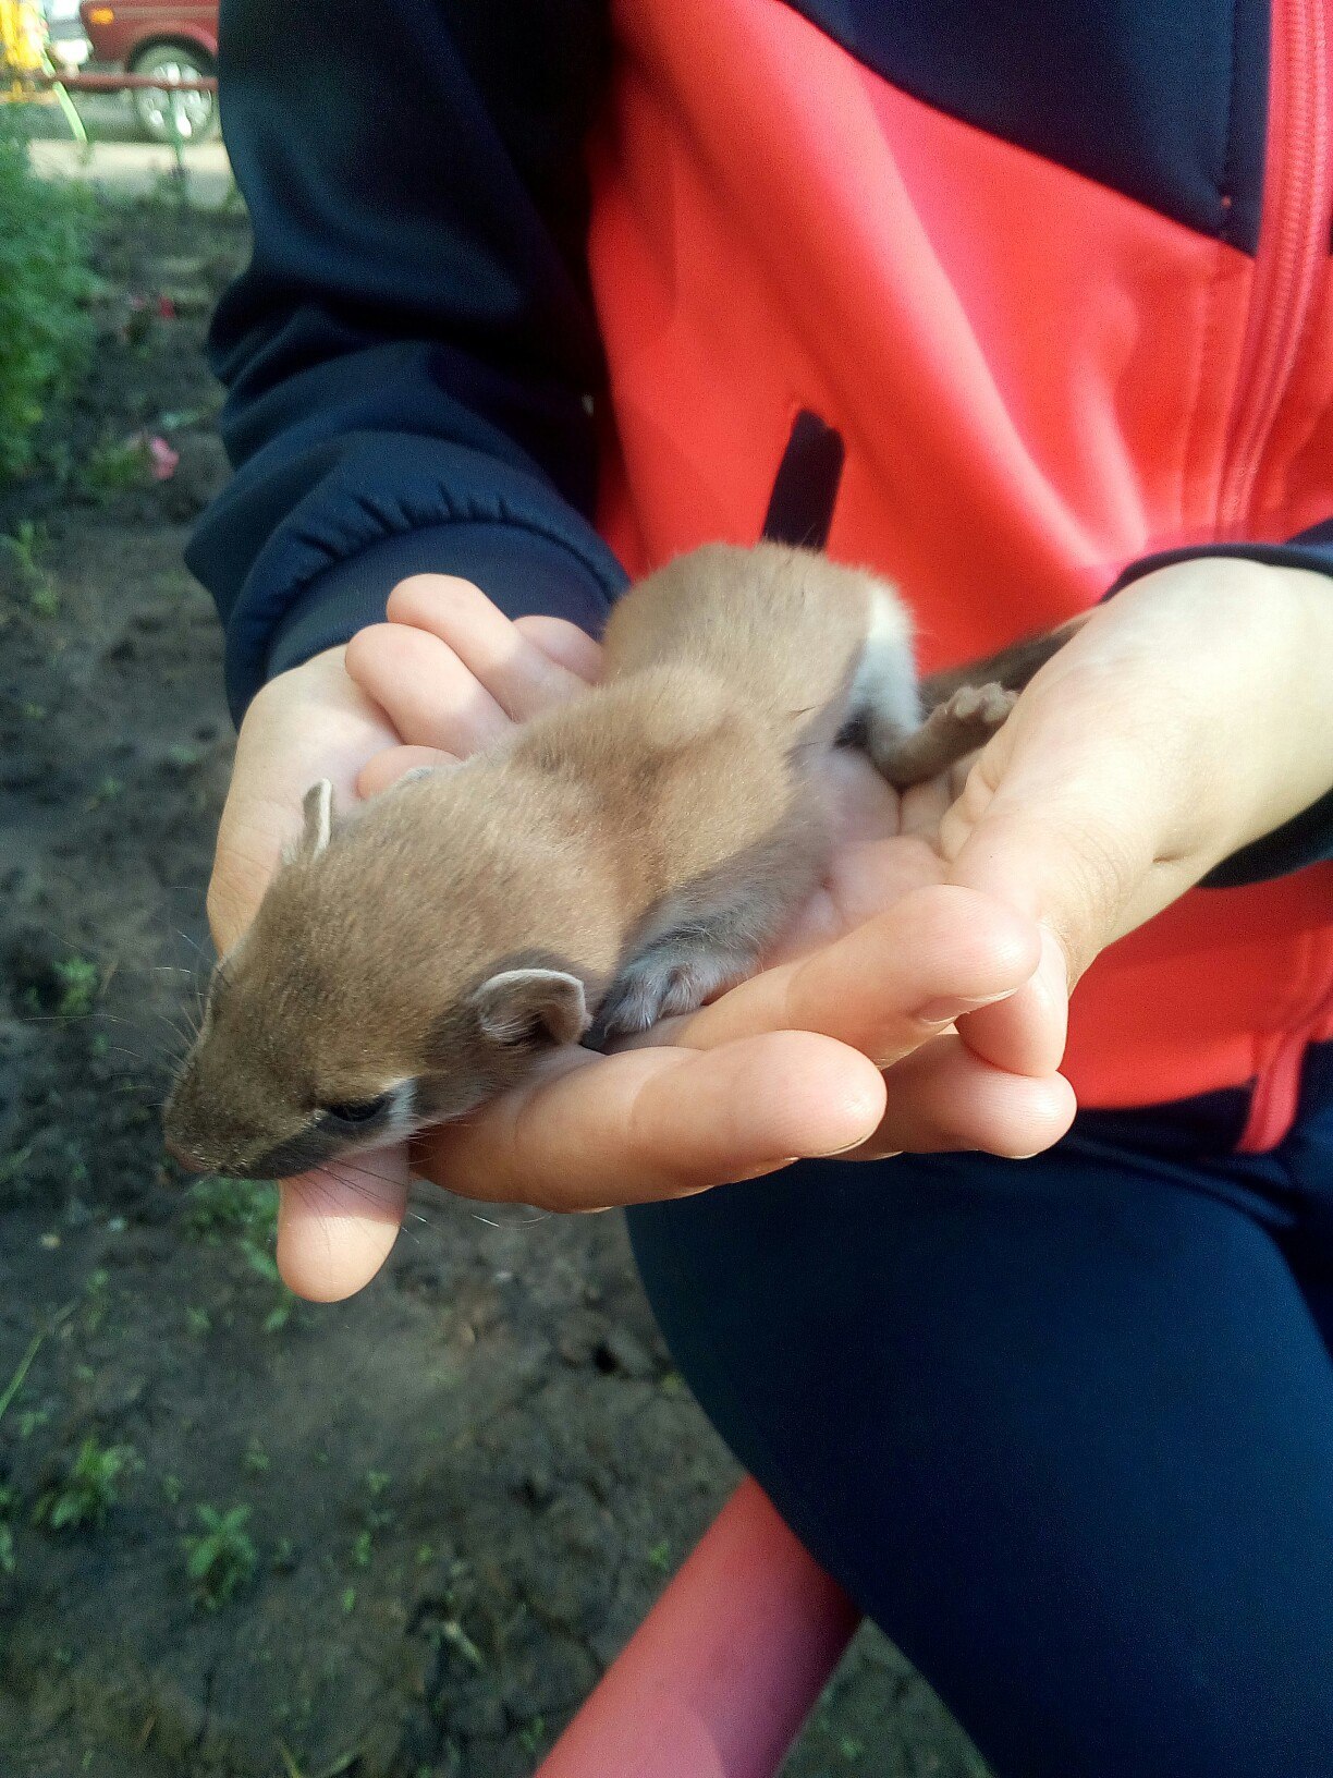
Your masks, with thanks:
[[(1221, 535), (1244, 537), (1273, 425), (1329, 254), (1329, 66), (1324, 0), (1273, 0), (1264, 215), (1255, 252), (1249, 325), (1217, 484)], [(1333, 1010), (1321, 989), (1258, 1063), (1239, 1149), (1274, 1149), (1290, 1129), (1310, 1033)]]

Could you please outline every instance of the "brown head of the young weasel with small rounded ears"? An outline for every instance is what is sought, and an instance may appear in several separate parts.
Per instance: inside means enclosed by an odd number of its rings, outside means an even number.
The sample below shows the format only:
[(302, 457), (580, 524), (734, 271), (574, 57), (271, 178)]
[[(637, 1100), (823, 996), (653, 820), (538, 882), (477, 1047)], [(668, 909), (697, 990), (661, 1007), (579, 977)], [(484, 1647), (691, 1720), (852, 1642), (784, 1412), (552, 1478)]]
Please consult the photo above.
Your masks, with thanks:
[(165, 1106), (192, 1170), (283, 1179), (400, 1141), (588, 1028), (585, 976), (523, 942), (512, 832), (464, 827), (423, 861), (428, 811), (407, 800), (389, 791), (334, 830), (331, 788), (306, 797), (304, 837), (213, 971)]

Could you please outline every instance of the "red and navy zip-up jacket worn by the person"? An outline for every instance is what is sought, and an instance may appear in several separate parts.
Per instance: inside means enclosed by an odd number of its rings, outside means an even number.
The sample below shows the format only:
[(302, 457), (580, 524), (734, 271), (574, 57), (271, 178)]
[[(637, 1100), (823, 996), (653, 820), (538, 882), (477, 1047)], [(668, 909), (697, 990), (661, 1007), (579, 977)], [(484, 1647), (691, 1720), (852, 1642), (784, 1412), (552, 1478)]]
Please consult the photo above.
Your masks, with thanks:
[[(336, 0), (316, 112), (236, 0), (242, 473), (192, 558), (238, 699), (421, 565), (595, 622), (588, 521), (631, 574), (754, 539), (802, 411), (846, 452), (830, 553), (899, 581), (926, 669), (1155, 551), (1333, 569), (1329, 11), (395, 0), (371, 34)], [(1310, 864), (1113, 946), (1068, 1072), (1102, 1106), (1253, 1085), (1264, 1147), (1328, 1037)]]

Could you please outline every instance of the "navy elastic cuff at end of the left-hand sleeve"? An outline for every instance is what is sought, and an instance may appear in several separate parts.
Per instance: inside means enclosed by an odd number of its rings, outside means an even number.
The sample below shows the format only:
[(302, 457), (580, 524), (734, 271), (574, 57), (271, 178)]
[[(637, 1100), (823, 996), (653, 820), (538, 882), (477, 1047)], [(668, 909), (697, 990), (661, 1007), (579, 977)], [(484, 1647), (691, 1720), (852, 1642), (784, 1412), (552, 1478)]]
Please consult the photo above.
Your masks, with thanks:
[(265, 677), (382, 622), (389, 594), (409, 574), (459, 574), (507, 617), (563, 617), (592, 637), (610, 610), (597, 578), (549, 537), (517, 525), (432, 525), (386, 537), (313, 581), (274, 629)]

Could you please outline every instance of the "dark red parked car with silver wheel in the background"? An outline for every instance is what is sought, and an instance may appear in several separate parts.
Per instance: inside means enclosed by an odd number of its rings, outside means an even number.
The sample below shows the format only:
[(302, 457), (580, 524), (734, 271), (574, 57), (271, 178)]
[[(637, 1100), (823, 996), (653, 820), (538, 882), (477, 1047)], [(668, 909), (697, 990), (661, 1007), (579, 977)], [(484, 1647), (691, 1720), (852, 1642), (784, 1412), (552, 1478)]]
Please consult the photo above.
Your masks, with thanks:
[[(132, 75), (206, 80), (217, 73), (217, 0), (84, 0), (78, 9), (94, 59)], [(132, 94), (140, 128), (155, 142), (201, 140), (217, 133), (215, 92)]]

